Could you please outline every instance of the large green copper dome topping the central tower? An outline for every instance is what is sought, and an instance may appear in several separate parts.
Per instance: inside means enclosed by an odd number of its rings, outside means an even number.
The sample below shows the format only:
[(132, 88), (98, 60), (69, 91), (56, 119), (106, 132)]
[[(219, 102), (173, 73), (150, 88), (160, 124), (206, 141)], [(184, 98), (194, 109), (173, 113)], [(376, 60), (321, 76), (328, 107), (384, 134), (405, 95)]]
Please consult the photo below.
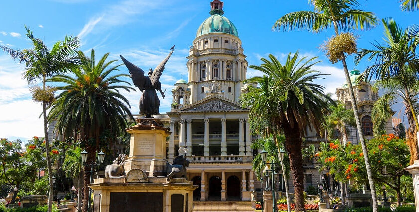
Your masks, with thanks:
[(228, 18), (222, 16), (224, 11), (213, 9), (210, 14), (211, 16), (205, 19), (200, 27), (198, 27), (197, 35), (195, 37), (210, 33), (227, 33), (238, 37), (237, 28), (234, 24), (228, 20)]

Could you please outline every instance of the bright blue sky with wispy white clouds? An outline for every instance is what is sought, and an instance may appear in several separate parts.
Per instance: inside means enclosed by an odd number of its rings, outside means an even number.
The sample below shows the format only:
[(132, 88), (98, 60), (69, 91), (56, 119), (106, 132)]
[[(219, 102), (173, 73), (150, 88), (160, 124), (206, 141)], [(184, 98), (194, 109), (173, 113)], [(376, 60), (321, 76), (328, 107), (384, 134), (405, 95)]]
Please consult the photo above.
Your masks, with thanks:
[[(419, 11), (402, 12), (398, 0), (359, 0), (361, 9), (374, 12), (378, 18), (393, 17), (401, 26), (418, 24)], [(167, 97), (162, 100), (160, 112), (169, 110), (170, 91), (174, 82), (187, 79), (186, 56), (195, 38), (198, 26), (210, 14), (210, 0), (14, 0), (2, 1), (0, 13), (0, 45), (14, 49), (30, 48), (25, 39), (24, 24), (36, 37), (51, 46), (65, 35), (79, 36), (81, 50), (94, 48), (99, 57), (111, 52), (119, 54), (142, 67), (154, 68), (169, 52), (176, 49), (162, 76), (162, 87)], [(282, 15), (299, 10), (312, 10), (307, 0), (224, 0), (224, 11), (237, 27), (249, 64), (259, 65), (260, 57), (269, 53), (281, 61), (289, 52), (319, 56), (323, 60), (316, 69), (331, 74), (318, 81), (326, 92), (335, 92), (344, 84), (341, 63), (331, 64), (319, 50), (331, 30), (313, 34), (304, 30), (274, 32), (272, 25)], [(380, 22), (381, 23), (381, 22)], [(370, 42), (382, 41), (383, 27), (370, 31), (354, 31), (359, 35), (358, 47), (371, 48)], [(355, 67), (348, 58), (348, 68), (361, 71), (370, 63), (362, 61)], [(27, 140), (43, 135), (39, 119), (41, 105), (31, 100), (27, 83), (21, 78), (23, 66), (0, 52), (0, 137)], [(125, 67), (121, 72), (128, 73)], [(248, 75), (260, 73), (249, 69)], [(124, 93), (132, 112), (138, 113), (140, 92)], [(399, 112), (400, 108), (395, 108)], [(403, 111), (402, 113), (403, 114)], [(401, 115), (402, 116), (402, 115)]]

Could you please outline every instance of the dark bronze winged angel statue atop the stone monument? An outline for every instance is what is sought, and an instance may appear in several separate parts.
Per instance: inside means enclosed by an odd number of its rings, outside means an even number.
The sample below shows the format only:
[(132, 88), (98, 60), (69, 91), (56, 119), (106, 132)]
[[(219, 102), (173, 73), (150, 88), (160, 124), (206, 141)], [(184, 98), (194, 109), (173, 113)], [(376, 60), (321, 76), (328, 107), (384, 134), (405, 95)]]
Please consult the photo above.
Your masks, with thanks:
[(137, 86), (143, 93), (140, 97), (138, 106), (140, 107), (140, 114), (146, 115), (146, 118), (152, 118), (152, 115), (159, 114), (160, 100), (157, 96), (156, 90), (160, 91), (162, 97), (165, 98), (164, 92), (162, 91), (162, 84), (159, 79), (165, 69), (165, 64), (172, 55), (175, 46), (170, 48), (169, 55), (154, 69), (149, 69), (148, 76), (144, 75), (144, 71), (136, 65), (130, 63), (122, 55), (119, 55), (127, 66), (128, 71), (131, 74), (132, 82)]

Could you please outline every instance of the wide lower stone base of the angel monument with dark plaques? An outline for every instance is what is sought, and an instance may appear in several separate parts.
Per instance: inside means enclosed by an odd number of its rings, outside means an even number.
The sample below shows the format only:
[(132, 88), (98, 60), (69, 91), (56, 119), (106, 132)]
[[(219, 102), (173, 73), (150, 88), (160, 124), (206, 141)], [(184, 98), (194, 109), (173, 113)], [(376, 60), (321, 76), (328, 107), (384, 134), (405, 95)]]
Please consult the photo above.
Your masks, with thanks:
[[(118, 212), (124, 207), (132, 212), (192, 212), (192, 181), (170, 178), (147, 178), (145, 182), (128, 182), (127, 178), (99, 178), (89, 187), (94, 190), (98, 212)], [(139, 202), (146, 202), (138, 206)], [(175, 210), (176, 208), (176, 210)]]

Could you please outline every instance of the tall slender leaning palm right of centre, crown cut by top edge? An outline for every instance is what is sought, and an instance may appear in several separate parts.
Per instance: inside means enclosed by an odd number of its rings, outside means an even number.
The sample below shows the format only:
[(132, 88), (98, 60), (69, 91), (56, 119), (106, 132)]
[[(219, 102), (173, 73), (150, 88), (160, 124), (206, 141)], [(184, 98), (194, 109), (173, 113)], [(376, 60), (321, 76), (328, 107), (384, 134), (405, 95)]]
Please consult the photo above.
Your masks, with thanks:
[[(360, 6), (357, 0), (309, 0), (314, 6), (314, 11), (298, 11), (288, 13), (279, 18), (273, 29), (292, 30), (293, 28), (307, 29), (313, 32), (320, 32), (333, 27), (335, 36), (343, 35), (341, 31), (350, 31), (353, 29), (370, 29), (377, 24), (377, 18), (373, 12), (367, 12), (356, 9)], [(353, 43), (351, 43), (353, 44)], [(356, 50), (356, 49), (355, 49)], [(350, 52), (348, 52), (350, 54)], [(364, 134), (362, 132), (361, 120), (357, 102), (349, 77), (348, 67), (346, 65), (346, 56), (344, 51), (338, 52), (338, 60), (342, 61), (346, 82), (348, 84), (351, 96), (351, 104), (355, 116), (358, 134), (361, 141), (362, 151), (364, 152), (365, 166), (367, 169), (368, 182), (370, 183), (371, 195), (373, 199), (373, 212), (378, 211), (377, 196), (374, 187), (371, 165), (368, 159), (367, 146), (365, 145)]]

